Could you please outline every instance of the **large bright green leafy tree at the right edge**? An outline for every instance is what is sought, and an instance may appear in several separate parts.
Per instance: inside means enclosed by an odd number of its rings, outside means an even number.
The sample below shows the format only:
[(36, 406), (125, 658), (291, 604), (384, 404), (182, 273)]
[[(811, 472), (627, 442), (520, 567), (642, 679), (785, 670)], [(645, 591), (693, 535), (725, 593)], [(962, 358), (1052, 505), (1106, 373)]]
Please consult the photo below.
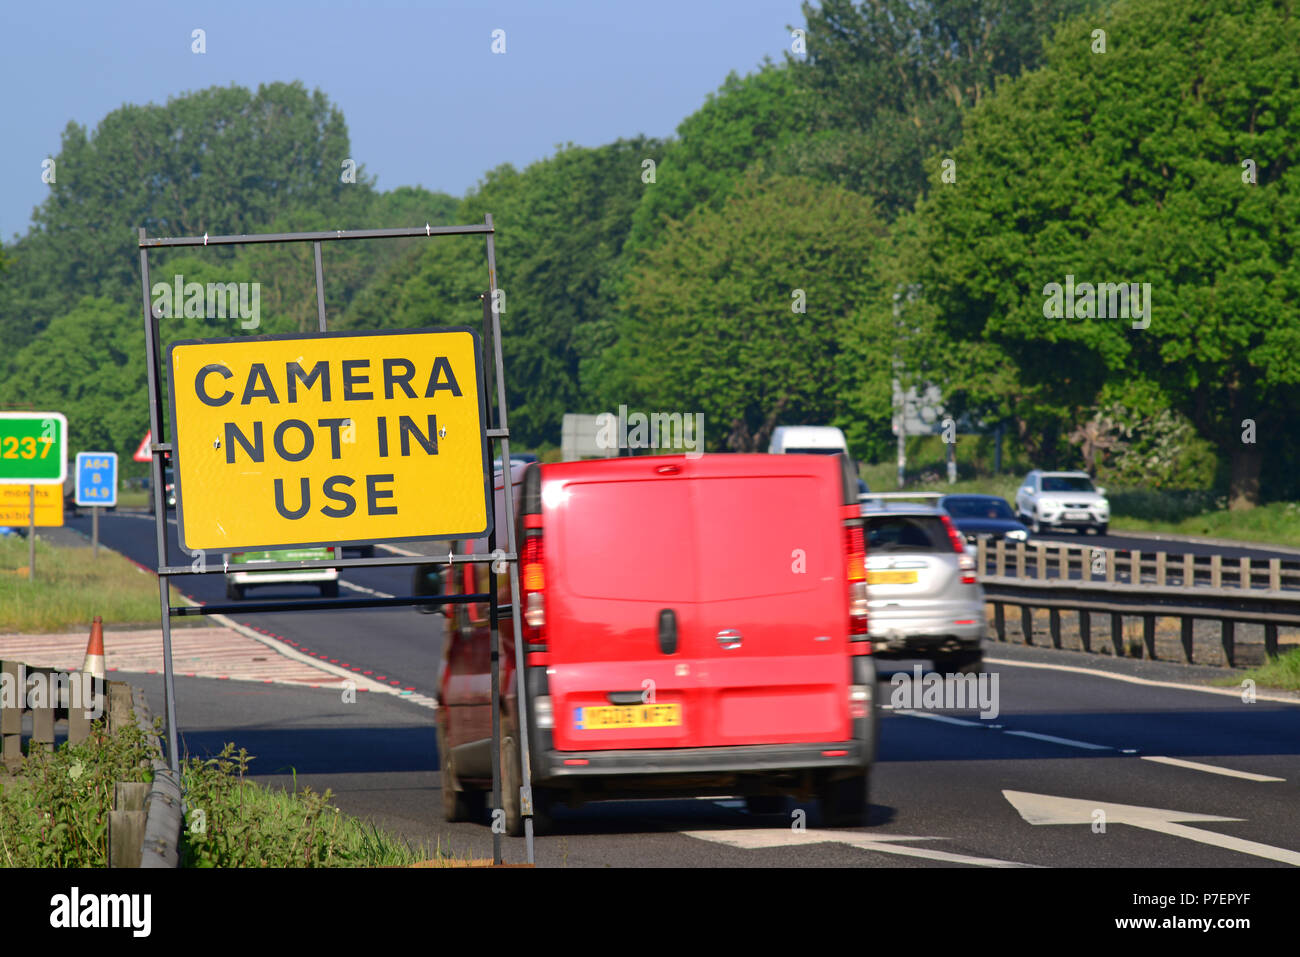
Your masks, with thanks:
[[(1290, 7), (1126, 0), (1069, 23), (1044, 69), (974, 112), (957, 182), (932, 166), (923, 208), (936, 346), (1005, 360), (1002, 398), (1065, 428), (1108, 384), (1149, 380), (1231, 463), (1235, 508), (1258, 501), (1260, 443), (1280, 454), (1300, 404)], [(1149, 283), (1145, 317), (1114, 315), (1109, 291), (1057, 317), (1067, 277)], [(996, 398), (979, 369), (956, 381)]]

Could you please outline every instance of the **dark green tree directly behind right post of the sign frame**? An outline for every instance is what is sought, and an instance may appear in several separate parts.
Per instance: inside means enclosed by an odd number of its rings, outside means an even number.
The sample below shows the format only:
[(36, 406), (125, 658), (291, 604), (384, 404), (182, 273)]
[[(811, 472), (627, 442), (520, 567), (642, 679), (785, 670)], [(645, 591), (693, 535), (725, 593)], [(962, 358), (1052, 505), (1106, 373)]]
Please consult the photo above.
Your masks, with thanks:
[[(584, 369), (608, 341), (612, 277), (632, 213), (647, 189), (651, 139), (595, 150), (566, 147), (520, 172), (491, 170), (462, 203), (460, 222), (493, 215), (510, 426), (524, 447), (559, 442), (564, 412), (581, 411)], [(419, 243), (419, 241), (417, 241)], [(438, 239), (396, 260), (384, 282), (358, 298), (351, 328), (482, 328), (488, 287), (484, 242)]]

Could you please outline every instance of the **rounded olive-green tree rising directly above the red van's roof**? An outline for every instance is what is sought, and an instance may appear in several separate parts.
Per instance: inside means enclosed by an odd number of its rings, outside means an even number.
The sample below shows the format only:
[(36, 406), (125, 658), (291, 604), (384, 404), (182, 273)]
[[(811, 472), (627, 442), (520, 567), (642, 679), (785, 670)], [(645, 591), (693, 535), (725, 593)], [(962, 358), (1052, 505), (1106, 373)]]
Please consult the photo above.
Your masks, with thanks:
[[(781, 423), (883, 419), (881, 332), (862, 303), (883, 229), (870, 200), (753, 172), (720, 209), (670, 222), (628, 277), (604, 355), (608, 408), (703, 412), (708, 445), (766, 447)], [(888, 385), (885, 385), (888, 393)]]

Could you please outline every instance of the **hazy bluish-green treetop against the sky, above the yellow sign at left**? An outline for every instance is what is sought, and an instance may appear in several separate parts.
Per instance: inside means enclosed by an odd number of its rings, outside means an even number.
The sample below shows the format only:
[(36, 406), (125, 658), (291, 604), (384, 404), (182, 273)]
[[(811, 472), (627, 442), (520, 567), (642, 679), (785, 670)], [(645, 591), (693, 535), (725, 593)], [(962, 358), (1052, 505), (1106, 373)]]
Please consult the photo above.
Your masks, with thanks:
[[(372, 181), (359, 168), (356, 182), (343, 183), (347, 159), (342, 113), (300, 83), (125, 105), (92, 134), (69, 124), (49, 195), (0, 283), (0, 338), (25, 345), (83, 295), (136, 300), (138, 226), (150, 235), (251, 233), (291, 209), (358, 218)], [(165, 261), (165, 252), (151, 256)]]

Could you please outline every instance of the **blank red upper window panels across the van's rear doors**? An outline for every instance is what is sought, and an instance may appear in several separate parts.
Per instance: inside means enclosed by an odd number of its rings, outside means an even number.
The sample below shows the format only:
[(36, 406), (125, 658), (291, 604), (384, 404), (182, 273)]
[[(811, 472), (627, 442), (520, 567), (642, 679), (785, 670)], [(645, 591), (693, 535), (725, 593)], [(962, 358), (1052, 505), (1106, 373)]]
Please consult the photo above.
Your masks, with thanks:
[[(727, 601), (809, 592), (837, 573), (832, 562), (842, 546), (832, 497), (840, 489), (811, 476), (567, 489), (556, 559), (569, 588), (586, 598)], [(792, 571), (796, 554), (800, 573)]]

